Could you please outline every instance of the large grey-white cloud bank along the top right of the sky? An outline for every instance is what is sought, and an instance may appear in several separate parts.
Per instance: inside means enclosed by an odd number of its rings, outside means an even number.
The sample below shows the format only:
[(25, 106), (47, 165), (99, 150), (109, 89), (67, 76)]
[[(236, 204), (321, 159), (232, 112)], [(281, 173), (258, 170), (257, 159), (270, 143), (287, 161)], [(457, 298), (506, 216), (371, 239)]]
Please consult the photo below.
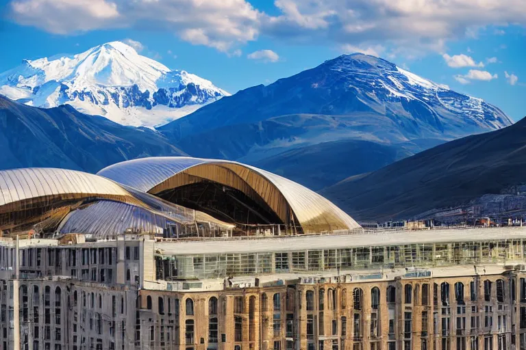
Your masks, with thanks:
[[(262, 32), (312, 43), (365, 43), (444, 51), (447, 40), (475, 37), (488, 25), (526, 24), (524, 0), (278, 0)], [(477, 14), (474, 16), (473, 14)]]

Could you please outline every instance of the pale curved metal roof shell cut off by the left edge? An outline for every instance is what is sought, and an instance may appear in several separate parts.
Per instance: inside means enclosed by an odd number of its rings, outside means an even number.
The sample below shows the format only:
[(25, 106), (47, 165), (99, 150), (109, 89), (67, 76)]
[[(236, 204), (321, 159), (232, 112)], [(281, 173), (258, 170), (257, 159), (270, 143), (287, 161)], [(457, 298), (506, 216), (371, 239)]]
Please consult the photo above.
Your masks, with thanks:
[(0, 207), (32, 198), (92, 196), (138, 202), (121, 185), (93, 174), (53, 168), (0, 171)]

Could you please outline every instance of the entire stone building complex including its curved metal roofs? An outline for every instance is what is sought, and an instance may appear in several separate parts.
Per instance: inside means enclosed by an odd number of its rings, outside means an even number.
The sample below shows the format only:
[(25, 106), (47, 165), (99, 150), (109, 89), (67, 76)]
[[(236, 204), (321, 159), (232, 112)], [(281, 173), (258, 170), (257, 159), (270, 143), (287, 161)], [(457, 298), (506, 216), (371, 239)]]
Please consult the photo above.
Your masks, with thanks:
[(2, 171), (0, 230), (1, 350), (526, 348), (523, 228), (364, 233), (240, 163)]

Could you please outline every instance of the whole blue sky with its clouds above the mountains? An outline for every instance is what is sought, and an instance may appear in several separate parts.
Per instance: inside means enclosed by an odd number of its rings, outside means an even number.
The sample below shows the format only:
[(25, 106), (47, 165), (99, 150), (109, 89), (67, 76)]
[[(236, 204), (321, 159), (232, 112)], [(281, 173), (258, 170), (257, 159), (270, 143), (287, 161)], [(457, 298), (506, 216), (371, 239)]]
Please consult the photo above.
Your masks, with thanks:
[(0, 71), (134, 40), (234, 93), (342, 53), (379, 55), (526, 116), (526, 0), (0, 0)]

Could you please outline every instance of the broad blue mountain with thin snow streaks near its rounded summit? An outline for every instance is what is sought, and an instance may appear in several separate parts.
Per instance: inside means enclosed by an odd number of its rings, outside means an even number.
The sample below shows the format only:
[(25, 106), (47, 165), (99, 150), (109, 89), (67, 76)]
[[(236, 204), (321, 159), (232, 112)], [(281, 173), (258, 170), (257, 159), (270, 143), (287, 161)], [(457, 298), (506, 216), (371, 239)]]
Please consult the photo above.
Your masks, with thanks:
[[(384, 59), (353, 54), (221, 98), (158, 130), (196, 157), (245, 161), (282, 171), (306, 185), (323, 178), (337, 182), (385, 165), (373, 157), (338, 159), (332, 154), (337, 150), (316, 149), (318, 144), (365, 140), (411, 155), (510, 124), (510, 118), (484, 100), (453, 92)], [(322, 150), (332, 159), (324, 170), (299, 159), (303, 172), (279, 165)], [(339, 178), (332, 171), (337, 168)], [(321, 185), (331, 183), (323, 181), (316, 188)]]

